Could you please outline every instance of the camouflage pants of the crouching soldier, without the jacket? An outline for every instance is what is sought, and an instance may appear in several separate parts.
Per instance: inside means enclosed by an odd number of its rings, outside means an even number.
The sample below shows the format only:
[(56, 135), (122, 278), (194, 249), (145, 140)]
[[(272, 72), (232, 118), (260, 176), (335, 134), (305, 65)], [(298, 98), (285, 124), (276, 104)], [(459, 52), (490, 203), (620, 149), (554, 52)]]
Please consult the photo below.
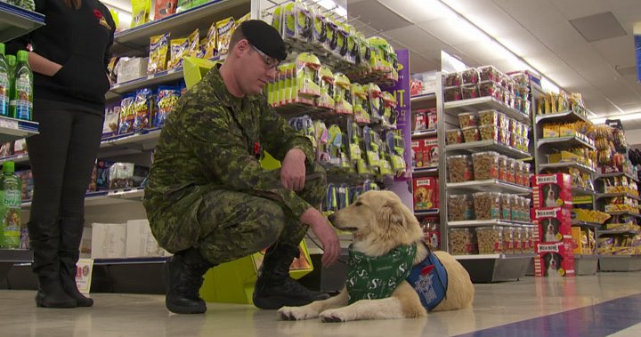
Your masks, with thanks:
[[(280, 176), (280, 170), (273, 171)], [(199, 187), (201, 188), (201, 187)], [(320, 207), (326, 196), (327, 181), (321, 166), (307, 175), (305, 187), (296, 192), (310, 205)], [(298, 245), (309, 226), (271, 196), (257, 196), (228, 189), (212, 189), (202, 194), (197, 210), (198, 229), (179, 229), (187, 237), (158, 238), (167, 250), (181, 251), (191, 246), (215, 264), (256, 253), (275, 242)], [(172, 242), (174, 241), (174, 242)]]

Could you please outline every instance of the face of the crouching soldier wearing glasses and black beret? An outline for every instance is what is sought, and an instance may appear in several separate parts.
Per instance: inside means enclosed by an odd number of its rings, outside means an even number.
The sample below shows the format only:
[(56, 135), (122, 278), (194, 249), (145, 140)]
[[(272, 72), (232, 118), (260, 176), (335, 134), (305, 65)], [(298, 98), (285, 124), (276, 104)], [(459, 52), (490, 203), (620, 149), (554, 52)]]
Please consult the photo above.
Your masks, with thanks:
[(247, 40), (239, 41), (237, 46), (241, 48), (237, 78), (240, 90), (246, 95), (263, 92), (265, 84), (271, 82), (276, 76), (278, 60), (260, 52)]

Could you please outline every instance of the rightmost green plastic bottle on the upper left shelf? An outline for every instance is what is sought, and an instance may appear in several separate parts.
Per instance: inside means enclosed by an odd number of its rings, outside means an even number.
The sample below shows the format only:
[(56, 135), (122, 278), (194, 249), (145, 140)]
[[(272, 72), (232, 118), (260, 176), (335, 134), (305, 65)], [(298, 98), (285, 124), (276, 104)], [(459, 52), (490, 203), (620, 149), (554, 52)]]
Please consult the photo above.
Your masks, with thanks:
[(33, 109), (33, 72), (28, 65), (28, 52), (19, 51), (15, 68), (10, 114), (13, 118), (31, 120)]

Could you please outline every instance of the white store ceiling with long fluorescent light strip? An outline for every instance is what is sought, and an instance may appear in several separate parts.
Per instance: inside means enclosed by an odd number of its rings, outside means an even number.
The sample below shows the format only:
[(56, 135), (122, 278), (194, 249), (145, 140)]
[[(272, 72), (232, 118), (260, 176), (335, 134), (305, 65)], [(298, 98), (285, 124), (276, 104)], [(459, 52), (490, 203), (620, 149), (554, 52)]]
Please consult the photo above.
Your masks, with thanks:
[[(348, 0), (356, 26), (383, 27), (370, 20), (372, 13), (405, 27), (378, 31), (397, 48), (412, 52), (412, 72), (439, 68), (440, 50), (457, 55), (470, 66), (493, 64), (509, 71), (507, 60), (493, 48), (466, 36), (461, 23), (433, 11), (426, 0)], [(501, 44), (569, 92), (580, 92), (588, 109), (600, 116), (641, 111), (641, 84), (637, 84), (632, 25), (641, 20), (639, 0), (445, 0), (452, 9), (495, 37)], [(436, 8), (437, 9), (437, 8)], [(387, 11), (384, 15), (381, 11)], [(612, 12), (625, 36), (588, 42), (570, 20)], [(619, 28), (619, 30), (621, 30)], [(596, 27), (604, 29), (604, 27)], [(621, 76), (617, 68), (622, 68)], [(632, 123), (629, 124), (632, 126)], [(641, 127), (637, 123), (635, 127)]]

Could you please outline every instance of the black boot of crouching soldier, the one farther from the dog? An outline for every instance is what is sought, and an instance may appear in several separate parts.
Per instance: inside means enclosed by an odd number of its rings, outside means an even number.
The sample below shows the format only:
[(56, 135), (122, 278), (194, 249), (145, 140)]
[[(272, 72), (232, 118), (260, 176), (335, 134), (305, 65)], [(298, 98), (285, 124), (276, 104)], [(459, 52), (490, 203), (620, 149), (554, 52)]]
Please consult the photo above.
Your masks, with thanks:
[(214, 264), (205, 260), (197, 248), (176, 253), (166, 261), (165, 305), (176, 314), (202, 314), (207, 304), (200, 298), (203, 275)]

